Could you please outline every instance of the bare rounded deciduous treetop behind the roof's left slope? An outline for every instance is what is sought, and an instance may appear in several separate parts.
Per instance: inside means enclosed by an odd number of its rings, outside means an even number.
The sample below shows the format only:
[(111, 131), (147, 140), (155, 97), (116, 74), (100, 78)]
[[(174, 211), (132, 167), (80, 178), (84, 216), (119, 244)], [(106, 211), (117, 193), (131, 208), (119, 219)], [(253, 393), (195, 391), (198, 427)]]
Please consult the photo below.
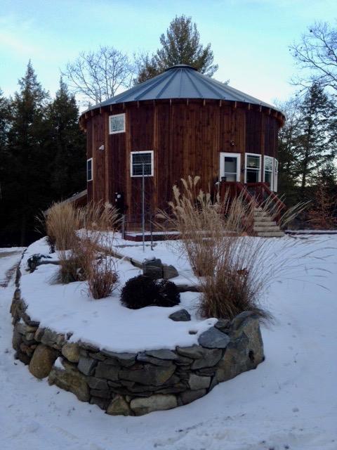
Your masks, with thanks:
[(82, 51), (73, 63), (67, 63), (63, 77), (70, 89), (87, 101), (101, 103), (131, 86), (133, 66), (127, 55), (114, 47), (100, 46), (97, 51)]

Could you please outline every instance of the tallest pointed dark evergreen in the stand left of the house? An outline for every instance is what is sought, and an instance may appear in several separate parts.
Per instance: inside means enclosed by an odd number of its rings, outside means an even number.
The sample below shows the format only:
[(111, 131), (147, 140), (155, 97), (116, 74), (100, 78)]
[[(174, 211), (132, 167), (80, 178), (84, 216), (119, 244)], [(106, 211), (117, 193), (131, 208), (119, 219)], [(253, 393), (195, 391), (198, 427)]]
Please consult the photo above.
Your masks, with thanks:
[(20, 90), (11, 104), (8, 132), (8, 178), (4, 200), (8, 212), (8, 233), (20, 230), (20, 245), (34, 230), (34, 217), (51, 200), (49, 165), (46, 152), (46, 105), (48, 95), (37, 82), (32, 64), (19, 80)]

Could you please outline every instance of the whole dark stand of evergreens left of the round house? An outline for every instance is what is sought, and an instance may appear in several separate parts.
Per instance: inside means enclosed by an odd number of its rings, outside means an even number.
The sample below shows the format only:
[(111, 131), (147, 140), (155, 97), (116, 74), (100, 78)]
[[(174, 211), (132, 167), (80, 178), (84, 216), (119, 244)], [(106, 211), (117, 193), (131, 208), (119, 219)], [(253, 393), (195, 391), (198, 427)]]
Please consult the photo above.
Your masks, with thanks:
[(51, 101), (30, 61), (14, 98), (0, 96), (0, 245), (27, 245), (39, 211), (85, 188), (78, 115), (65, 84)]

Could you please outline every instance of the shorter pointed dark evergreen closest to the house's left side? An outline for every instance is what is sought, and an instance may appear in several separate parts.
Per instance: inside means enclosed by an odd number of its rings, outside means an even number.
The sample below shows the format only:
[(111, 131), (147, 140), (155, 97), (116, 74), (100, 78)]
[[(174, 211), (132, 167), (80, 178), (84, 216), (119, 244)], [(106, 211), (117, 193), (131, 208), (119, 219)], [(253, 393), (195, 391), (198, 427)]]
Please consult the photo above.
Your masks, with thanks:
[(53, 154), (53, 200), (61, 200), (86, 187), (86, 139), (79, 129), (74, 95), (60, 79), (60, 89), (48, 107), (48, 150)]

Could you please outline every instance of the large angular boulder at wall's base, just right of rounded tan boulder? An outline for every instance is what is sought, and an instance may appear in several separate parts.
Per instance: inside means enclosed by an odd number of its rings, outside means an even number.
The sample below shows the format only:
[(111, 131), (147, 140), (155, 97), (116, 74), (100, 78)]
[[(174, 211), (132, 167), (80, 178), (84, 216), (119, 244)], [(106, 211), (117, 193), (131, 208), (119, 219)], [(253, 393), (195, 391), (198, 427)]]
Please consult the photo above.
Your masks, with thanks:
[(86, 383), (86, 376), (77, 370), (77, 368), (67, 365), (65, 370), (55, 366), (49, 373), (48, 383), (56, 385), (60, 389), (70, 391), (81, 401), (89, 401), (89, 387)]

